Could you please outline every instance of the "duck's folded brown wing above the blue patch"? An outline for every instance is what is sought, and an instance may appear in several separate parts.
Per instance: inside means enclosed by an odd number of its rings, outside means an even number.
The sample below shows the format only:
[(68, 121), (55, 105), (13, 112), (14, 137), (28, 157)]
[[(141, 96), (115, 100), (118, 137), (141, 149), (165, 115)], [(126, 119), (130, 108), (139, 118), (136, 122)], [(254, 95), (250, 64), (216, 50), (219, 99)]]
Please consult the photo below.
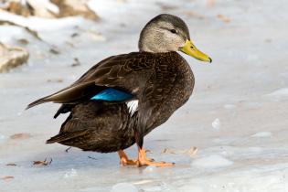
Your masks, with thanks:
[(73, 104), (90, 100), (108, 88), (137, 97), (153, 73), (155, 63), (156, 57), (152, 53), (112, 56), (93, 66), (69, 87), (30, 103), (27, 109), (48, 101)]

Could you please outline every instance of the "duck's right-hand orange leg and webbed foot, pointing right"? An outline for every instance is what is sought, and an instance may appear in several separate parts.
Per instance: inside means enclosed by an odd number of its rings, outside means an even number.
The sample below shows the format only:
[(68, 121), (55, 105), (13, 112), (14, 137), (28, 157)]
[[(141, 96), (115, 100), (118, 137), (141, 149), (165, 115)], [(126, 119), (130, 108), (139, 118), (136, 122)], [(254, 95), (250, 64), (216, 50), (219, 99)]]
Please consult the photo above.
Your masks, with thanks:
[(138, 147), (138, 159), (136, 161), (138, 166), (143, 166), (143, 165), (155, 165), (155, 166), (171, 166), (174, 165), (174, 163), (165, 163), (165, 162), (154, 162), (154, 160), (149, 159), (146, 156), (146, 152), (144, 148)]

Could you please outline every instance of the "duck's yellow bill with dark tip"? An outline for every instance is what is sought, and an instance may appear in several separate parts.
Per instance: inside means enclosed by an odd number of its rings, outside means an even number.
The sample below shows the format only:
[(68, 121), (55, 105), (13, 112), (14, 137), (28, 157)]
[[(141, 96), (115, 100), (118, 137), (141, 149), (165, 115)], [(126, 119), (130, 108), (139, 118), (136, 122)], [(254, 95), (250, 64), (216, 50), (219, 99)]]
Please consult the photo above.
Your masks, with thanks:
[(182, 48), (179, 48), (180, 51), (186, 53), (187, 55), (198, 59), (198, 60), (202, 60), (205, 62), (212, 62), (212, 59), (210, 59), (208, 57), (208, 55), (206, 55), (205, 53), (202, 53), (200, 50), (198, 50), (193, 43), (187, 39), (185, 45)]

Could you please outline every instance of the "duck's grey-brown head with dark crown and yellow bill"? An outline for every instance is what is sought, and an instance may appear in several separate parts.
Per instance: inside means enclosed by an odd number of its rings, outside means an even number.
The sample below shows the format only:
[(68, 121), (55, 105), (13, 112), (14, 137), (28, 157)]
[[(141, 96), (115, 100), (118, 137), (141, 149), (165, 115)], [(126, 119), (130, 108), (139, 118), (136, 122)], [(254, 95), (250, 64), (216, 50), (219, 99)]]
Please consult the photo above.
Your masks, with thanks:
[(145, 25), (138, 46), (140, 51), (153, 53), (180, 50), (195, 59), (212, 62), (208, 55), (194, 46), (185, 22), (169, 14), (155, 16)]

